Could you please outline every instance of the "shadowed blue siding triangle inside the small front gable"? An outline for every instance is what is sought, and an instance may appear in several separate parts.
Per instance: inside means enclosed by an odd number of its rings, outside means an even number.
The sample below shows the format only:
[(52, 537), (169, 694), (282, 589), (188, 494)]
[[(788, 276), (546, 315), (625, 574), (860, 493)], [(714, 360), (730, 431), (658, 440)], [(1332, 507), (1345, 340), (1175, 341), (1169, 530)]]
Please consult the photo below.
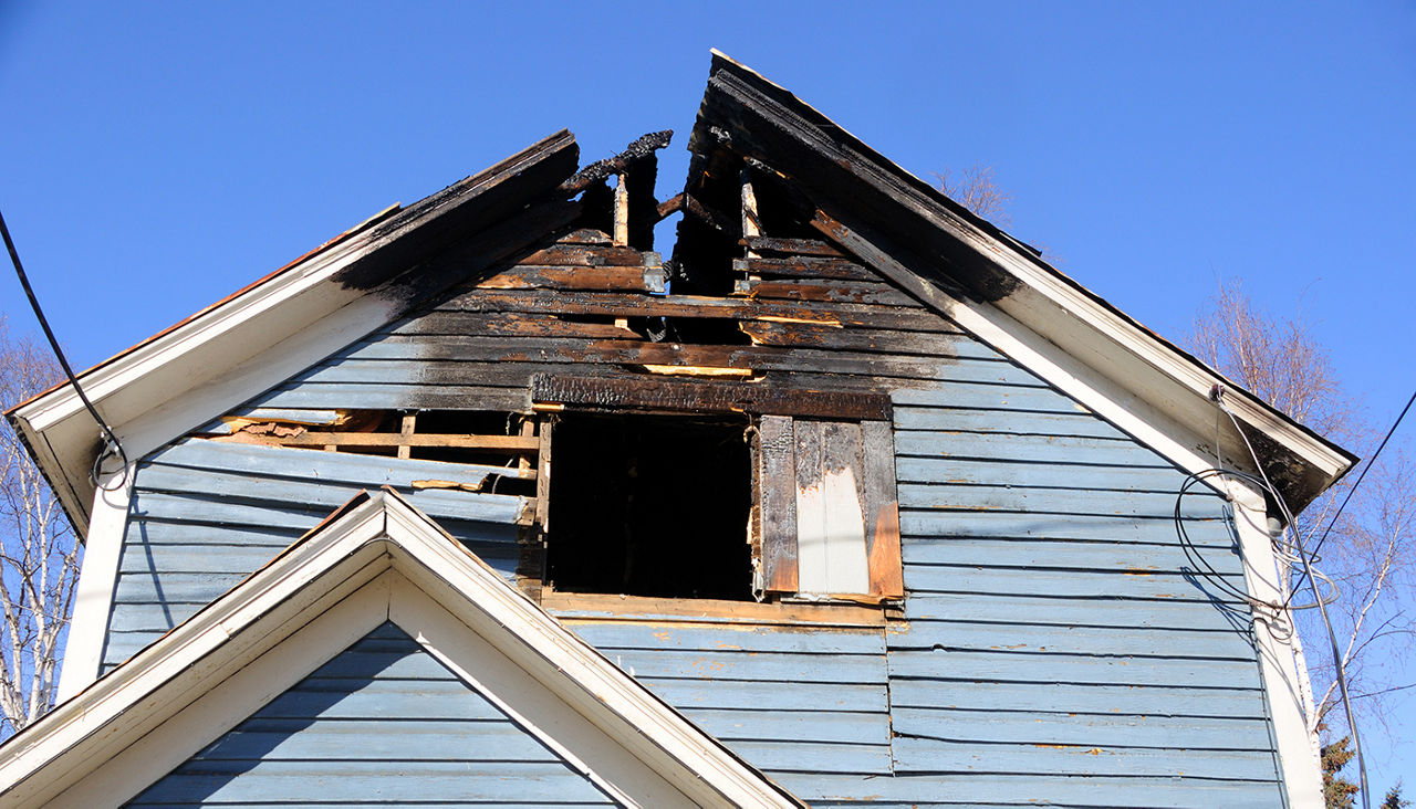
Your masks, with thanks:
[(385, 624), (129, 806), (613, 806)]

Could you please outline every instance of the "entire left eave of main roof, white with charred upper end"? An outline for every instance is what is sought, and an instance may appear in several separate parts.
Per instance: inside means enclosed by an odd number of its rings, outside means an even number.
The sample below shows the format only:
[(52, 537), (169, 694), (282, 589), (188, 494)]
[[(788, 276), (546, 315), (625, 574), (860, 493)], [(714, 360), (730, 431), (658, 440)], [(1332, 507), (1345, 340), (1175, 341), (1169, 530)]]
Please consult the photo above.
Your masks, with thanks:
[[(361, 223), (85, 371), (84, 392), (137, 461), (398, 317), (409, 304), (404, 273), (426, 255), (466, 245), (479, 229), (497, 232), (506, 219), (484, 222), (486, 211), (514, 218), (521, 208), (511, 199), (554, 195), (576, 160), (575, 136), (562, 130), (384, 221)], [(102, 444), (74, 386), (35, 396), (8, 417), (86, 535), (88, 470)]]

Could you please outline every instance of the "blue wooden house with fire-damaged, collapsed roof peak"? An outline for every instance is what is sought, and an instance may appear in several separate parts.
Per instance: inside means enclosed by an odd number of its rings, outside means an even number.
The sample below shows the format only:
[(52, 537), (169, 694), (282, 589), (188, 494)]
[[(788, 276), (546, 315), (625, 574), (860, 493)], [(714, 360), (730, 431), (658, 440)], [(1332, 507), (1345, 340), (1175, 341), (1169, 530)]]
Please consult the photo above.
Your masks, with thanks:
[(667, 141), (88, 371), (126, 467), (14, 409), (88, 547), (0, 802), (1321, 805), (1277, 509), (1205, 471), (1352, 455), (721, 54), (658, 201)]

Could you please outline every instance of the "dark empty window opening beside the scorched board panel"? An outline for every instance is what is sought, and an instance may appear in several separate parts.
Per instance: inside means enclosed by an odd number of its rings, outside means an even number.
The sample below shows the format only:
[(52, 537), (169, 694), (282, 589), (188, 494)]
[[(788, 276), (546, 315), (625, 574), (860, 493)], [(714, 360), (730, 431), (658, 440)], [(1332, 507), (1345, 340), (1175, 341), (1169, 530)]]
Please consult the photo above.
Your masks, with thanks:
[(554, 588), (750, 601), (746, 426), (746, 416), (562, 416), (551, 444)]

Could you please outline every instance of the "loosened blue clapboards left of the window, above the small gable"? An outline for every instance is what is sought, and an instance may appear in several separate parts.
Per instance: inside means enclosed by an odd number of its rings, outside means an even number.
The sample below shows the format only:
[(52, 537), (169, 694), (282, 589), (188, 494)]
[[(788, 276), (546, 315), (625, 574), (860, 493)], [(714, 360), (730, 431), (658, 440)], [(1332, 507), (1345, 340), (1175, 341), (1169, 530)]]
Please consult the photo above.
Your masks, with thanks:
[(413, 489), (491, 467), (187, 438), (139, 465), (103, 649), (127, 659), (236, 586), (361, 489), (396, 488), (484, 561), (514, 576), (524, 498)]

